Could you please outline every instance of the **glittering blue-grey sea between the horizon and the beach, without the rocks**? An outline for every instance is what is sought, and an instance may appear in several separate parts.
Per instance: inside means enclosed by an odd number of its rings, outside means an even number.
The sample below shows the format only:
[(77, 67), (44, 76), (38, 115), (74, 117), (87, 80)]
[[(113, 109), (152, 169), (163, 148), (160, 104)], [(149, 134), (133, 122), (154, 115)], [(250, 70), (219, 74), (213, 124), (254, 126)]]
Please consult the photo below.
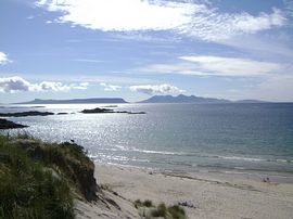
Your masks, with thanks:
[[(119, 104), (144, 115), (81, 114), (100, 104), (1, 107), (67, 115), (9, 118), (52, 142), (75, 140), (100, 163), (173, 171), (293, 176), (293, 104)], [(71, 114), (73, 113), (73, 114)]]

